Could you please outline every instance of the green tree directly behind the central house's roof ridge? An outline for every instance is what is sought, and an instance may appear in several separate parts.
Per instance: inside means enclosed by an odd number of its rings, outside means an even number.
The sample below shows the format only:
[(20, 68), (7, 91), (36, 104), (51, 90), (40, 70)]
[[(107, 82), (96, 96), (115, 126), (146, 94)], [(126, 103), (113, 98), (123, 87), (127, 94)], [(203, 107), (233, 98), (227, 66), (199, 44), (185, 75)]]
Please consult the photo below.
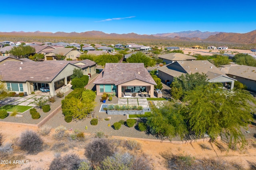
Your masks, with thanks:
[(154, 66), (156, 64), (156, 61), (154, 59), (151, 59), (142, 52), (131, 55), (131, 57), (126, 59), (126, 61), (128, 63), (144, 63), (145, 67)]

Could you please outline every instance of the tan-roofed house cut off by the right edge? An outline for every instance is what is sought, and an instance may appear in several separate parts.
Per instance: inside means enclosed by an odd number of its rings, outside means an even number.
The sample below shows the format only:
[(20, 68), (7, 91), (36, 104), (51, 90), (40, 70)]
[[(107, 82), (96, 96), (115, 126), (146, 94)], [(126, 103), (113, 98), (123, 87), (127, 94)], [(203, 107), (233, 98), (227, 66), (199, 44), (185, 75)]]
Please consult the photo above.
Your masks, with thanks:
[(248, 90), (256, 92), (256, 67), (228, 64), (222, 65), (220, 70), (231, 78), (235, 78), (247, 86)]

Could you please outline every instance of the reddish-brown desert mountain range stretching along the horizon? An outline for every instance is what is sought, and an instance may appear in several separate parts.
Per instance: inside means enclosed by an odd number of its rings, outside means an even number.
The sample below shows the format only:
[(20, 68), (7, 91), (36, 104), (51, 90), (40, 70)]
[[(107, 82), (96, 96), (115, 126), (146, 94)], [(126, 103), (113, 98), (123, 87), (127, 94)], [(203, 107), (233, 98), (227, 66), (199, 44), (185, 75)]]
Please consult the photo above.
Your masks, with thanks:
[(181, 31), (175, 33), (158, 33), (154, 35), (139, 35), (136, 33), (117, 34), (104, 33), (102, 31), (86, 31), (86, 32), (0, 32), (0, 35), (10, 36), (36, 36), (36, 37), (82, 37), (82, 38), (108, 38), (108, 39), (167, 39), (173, 41), (204, 41), (204, 42), (222, 42), (222, 43), (246, 43), (256, 44), (256, 30), (248, 33), (225, 33), (225, 32), (201, 32)]

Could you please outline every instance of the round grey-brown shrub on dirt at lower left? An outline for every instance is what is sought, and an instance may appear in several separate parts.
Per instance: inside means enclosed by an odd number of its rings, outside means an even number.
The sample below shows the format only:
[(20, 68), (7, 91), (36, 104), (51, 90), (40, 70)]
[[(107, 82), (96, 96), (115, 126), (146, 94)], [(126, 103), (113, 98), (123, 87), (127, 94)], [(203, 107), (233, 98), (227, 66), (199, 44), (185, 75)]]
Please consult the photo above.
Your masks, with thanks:
[(20, 135), (18, 146), (28, 154), (37, 154), (43, 148), (43, 141), (34, 131), (25, 131)]

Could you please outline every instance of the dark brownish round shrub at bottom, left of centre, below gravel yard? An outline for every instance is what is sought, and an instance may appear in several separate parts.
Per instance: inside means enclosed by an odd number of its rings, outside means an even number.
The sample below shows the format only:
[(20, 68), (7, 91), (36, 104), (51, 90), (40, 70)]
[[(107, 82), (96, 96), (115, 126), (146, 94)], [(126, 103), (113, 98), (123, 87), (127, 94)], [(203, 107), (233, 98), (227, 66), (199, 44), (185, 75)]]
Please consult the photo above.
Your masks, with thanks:
[(96, 138), (86, 145), (84, 155), (95, 165), (107, 156), (112, 156), (114, 149), (110, 146), (108, 139)]

